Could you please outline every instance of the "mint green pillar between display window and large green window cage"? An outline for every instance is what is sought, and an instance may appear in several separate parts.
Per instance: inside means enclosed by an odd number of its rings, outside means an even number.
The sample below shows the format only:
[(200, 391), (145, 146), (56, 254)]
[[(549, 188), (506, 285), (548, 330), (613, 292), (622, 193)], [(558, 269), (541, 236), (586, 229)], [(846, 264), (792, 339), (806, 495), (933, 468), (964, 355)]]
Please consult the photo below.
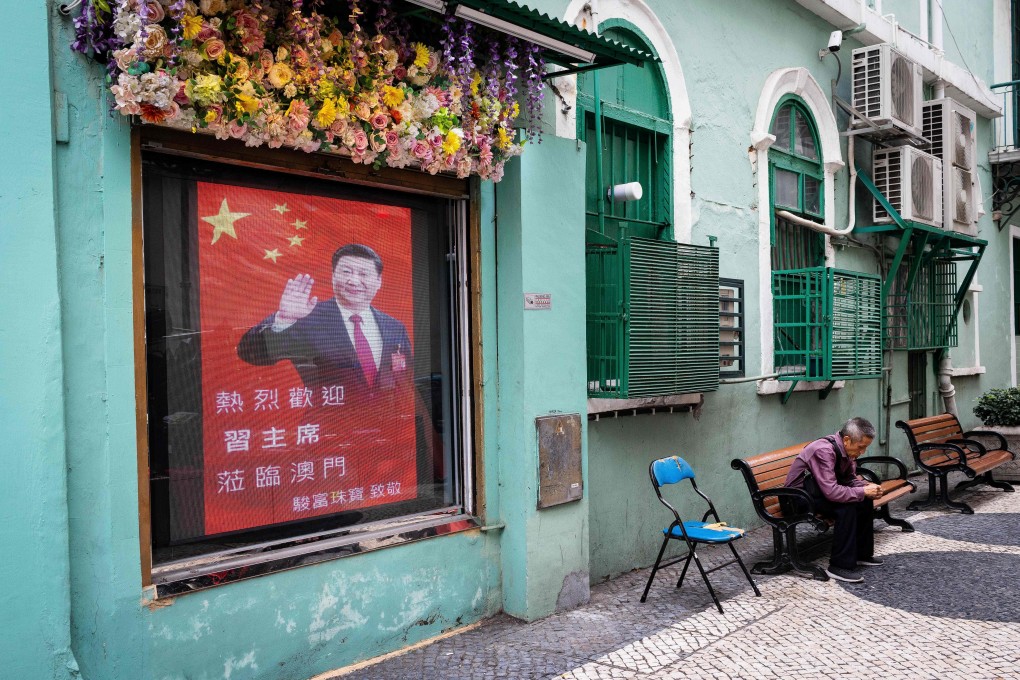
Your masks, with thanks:
[[(527, 146), (496, 187), (496, 214), (503, 604), (534, 620), (589, 597), (588, 498), (538, 510), (534, 423), (579, 413), (584, 446), (583, 145)], [(525, 293), (551, 294), (552, 308), (525, 310)]]

